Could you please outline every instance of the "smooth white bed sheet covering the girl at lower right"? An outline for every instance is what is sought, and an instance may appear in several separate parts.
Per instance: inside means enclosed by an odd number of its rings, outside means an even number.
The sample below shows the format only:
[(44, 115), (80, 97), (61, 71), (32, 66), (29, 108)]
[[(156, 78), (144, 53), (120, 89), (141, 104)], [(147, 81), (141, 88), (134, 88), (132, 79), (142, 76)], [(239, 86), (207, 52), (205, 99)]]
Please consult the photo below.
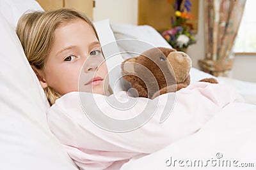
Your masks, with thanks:
[[(228, 104), (196, 134), (181, 139), (163, 150), (159, 150), (159, 152), (139, 159), (132, 159), (124, 164), (122, 170), (244, 169), (242, 166), (253, 166), (246, 167), (246, 169), (255, 169), (255, 122), (255, 105), (246, 103)], [(172, 164), (170, 165), (171, 157)], [(175, 166), (173, 166), (174, 160), (177, 160)], [(184, 162), (179, 164), (179, 160)], [(190, 160), (192, 162), (197, 161), (196, 166), (188, 167)], [(204, 166), (207, 166), (200, 167), (200, 164), (198, 167), (200, 160), (202, 160)], [(207, 160), (209, 160), (208, 163)], [(182, 165), (183, 167), (180, 167)]]

